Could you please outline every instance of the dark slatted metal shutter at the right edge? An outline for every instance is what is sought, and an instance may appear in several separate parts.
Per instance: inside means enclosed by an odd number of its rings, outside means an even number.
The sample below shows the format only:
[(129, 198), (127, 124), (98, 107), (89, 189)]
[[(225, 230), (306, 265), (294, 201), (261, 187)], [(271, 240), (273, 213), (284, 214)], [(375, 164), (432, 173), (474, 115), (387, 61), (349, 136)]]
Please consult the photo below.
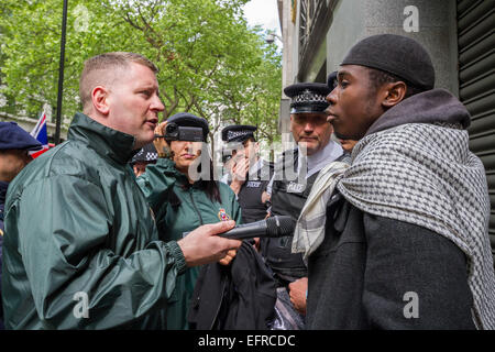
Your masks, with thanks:
[(470, 147), (485, 165), (495, 257), (495, 0), (458, 0), (459, 96), (472, 116)]

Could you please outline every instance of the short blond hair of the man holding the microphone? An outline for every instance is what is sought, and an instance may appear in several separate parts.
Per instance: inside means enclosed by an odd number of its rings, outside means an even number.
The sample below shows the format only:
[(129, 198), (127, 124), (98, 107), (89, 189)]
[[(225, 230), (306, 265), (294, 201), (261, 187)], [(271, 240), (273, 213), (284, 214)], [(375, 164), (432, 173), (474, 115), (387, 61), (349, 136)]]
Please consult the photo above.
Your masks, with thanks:
[(85, 67), (79, 79), (79, 98), (82, 109), (86, 111), (91, 102), (91, 91), (96, 86), (109, 86), (117, 75), (116, 69), (128, 68), (130, 63), (136, 63), (148, 67), (154, 74), (158, 72), (155, 64), (141, 54), (113, 52), (105, 53), (85, 62)]

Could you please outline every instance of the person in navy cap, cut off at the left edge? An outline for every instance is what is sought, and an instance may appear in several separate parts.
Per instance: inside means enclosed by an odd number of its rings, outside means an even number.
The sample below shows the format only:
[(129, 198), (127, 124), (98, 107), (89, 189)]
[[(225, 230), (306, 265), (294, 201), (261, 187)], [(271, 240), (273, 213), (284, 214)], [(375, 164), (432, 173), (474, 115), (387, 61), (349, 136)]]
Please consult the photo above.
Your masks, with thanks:
[[(32, 161), (30, 151), (43, 145), (21, 129), (15, 122), (0, 122), (0, 298), (3, 243), (3, 207), (9, 183)], [(3, 312), (0, 300), (0, 330), (3, 329)]]

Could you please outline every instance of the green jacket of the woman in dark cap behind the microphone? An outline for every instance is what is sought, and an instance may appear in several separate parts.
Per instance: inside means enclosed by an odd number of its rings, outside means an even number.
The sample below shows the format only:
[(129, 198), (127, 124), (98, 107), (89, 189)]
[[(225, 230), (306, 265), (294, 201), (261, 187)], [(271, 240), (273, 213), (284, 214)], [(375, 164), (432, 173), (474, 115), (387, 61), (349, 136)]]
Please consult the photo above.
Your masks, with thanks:
[[(241, 223), (241, 208), (229, 186), (217, 183), (222, 204), (211, 201), (198, 183), (189, 185), (187, 177), (167, 158), (160, 158), (155, 165), (147, 165), (146, 172), (138, 178), (138, 184), (155, 213), (162, 241), (177, 241), (184, 232), (193, 231), (201, 224), (218, 222), (222, 216), (226, 219), (226, 215)], [(170, 198), (170, 189), (178, 199)], [(177, 278), (176, 288), (168, 299), (167, 329), (188, 328), (187, 309), (199, 270), (189, 267)]]

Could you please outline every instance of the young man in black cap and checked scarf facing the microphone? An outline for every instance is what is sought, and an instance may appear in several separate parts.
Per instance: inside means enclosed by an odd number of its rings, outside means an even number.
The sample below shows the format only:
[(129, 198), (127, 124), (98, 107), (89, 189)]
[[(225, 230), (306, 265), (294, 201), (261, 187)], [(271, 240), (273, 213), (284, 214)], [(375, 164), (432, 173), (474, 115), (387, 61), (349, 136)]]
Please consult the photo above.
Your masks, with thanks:
[(366, 37), (344, 57), (328, 120), (359, 140), (308, 260), (309, 329), (494, 329), (495, 276), (470, 114), (416, 41)]

